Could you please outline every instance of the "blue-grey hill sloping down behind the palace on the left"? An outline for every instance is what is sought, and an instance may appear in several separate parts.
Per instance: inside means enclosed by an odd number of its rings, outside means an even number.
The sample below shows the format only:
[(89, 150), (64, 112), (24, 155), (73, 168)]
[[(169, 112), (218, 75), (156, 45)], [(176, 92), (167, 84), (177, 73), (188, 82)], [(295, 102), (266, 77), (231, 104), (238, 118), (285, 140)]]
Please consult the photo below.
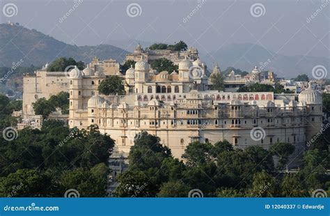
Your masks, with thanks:
[(99, 59), (116, 59), (120, 63), (128, 52), (112, 45), (76, 46), (63, 43), (35, 29), (23, 26), (0, 24), (1, 66), (11, 67), (13, 62), (23, 59), (23, 66), (45, 65), (54, 59), (66, 56), (88, 63)]

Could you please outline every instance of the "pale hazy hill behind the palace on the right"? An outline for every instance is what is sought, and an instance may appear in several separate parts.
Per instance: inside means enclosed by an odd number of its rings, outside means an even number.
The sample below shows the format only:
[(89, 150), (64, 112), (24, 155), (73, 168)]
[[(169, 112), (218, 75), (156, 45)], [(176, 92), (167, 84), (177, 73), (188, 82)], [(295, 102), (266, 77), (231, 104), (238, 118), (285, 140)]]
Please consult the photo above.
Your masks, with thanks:
[[(221, 70), (234, 67), (251, 72), (254, 65), (260, 67), (260, 63), (265, 63), (269, 59), (269, 63), (262, 70), (272, 70), (278, 77), (292, 78), (304, 73), (312, 77), (311, 72), (315, 65), (324, 65), (328, 70), (328, 77), (330, 73), (330, 59), (328, 58), (285, 56), (250, 43), (227, 45), (217, 52), (210, 52), (209, 55), (201, 53), (201, 59), (206, 61), (208, 68), (212, 69), (214, 60), (210, 58), (210, 55), (217, 60)], [(243, 55), (244, 57), (242, 57)]]

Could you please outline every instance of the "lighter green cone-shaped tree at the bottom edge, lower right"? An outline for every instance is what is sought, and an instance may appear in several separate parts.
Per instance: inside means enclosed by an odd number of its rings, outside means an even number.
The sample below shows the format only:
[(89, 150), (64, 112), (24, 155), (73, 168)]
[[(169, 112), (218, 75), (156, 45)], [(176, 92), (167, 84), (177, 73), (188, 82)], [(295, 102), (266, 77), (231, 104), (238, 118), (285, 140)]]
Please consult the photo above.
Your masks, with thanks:
[(278, 196), (276, 190), (276, 179), (269, 175), (266, 171), (261, 171), (253, 176), (252, 188), (249, 196), (257, 197), (274, 197)]

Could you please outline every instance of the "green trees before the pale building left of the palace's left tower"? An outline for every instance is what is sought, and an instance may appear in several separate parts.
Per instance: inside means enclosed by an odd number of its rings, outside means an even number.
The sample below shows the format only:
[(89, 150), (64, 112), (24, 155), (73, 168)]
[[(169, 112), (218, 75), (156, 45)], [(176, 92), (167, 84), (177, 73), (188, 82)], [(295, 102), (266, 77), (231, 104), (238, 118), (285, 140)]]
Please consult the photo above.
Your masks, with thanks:
[(61, 109), (62, 114), (69, 114), (69, 93), (61, 91), (57, 95), (52, 95), (49, 100), (40, 98), (32, 105), (35, 114), (42, 115), (44, 119), (48, 118), (53, 111), (56, 111), (56, 108)]

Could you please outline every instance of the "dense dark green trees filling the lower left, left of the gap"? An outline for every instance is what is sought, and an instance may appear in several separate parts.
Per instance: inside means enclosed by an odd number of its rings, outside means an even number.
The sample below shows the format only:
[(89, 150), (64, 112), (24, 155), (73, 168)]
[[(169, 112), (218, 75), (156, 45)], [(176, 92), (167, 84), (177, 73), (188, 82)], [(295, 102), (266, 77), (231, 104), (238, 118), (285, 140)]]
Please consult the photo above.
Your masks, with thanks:
[(1, 196), (105, 196), (107, 160), (114, 141), (97, 127), (69, 129), (45, 121), (41, 130), (25, 128), (17, 139), (0, 139)]

